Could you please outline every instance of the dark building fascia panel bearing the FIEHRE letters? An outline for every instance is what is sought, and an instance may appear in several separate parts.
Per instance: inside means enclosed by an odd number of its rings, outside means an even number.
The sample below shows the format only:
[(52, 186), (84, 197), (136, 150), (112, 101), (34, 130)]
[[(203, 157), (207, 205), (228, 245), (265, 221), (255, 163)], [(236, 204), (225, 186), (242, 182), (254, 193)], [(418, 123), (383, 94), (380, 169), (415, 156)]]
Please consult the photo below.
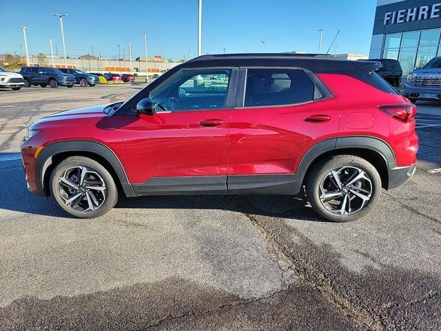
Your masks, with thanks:
[(441, 28), (441, 0), (406, 0), (378, 6), (373, 35)]

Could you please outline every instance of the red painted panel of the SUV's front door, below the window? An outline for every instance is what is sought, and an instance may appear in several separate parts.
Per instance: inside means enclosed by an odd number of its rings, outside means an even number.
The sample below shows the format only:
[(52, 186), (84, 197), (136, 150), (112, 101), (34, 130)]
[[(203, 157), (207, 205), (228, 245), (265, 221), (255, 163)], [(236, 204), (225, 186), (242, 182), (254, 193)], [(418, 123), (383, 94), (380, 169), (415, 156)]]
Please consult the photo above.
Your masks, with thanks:
[[(123, 143), (130, 182), (183, 176), (225, 176), (226, 180), (231, 113), (218, 109), (127, 115)], [(220, 125), (199, 124), (213, 120)]]

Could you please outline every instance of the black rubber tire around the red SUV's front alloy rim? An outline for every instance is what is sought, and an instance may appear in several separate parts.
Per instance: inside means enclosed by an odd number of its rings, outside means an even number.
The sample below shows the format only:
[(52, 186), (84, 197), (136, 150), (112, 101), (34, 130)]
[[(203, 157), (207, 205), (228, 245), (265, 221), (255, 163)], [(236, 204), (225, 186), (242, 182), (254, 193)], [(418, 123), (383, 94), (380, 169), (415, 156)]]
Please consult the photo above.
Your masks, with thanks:
[[(61, 197), (61, 195), (65, 193), (65, 188), (63, 187), (63, 185), (60, 186), (59, 178), (63, 177), (63, 173), (66, 170), (70, 171), (71, 168), (79, 167), (85, 167), (92, 172), (96, 172), (96, 174), (98, 174), (100, 177), (100, 181), (102, 180), (103, 185), (105, 186), (105, 190), (102, 191), (103, 196), (101, 196), (104, 197), (104, 199), (102, 199), (101, 205), (99, 205), (99, 207), (95, 210), (75, 210), (73, 207), (66, 205), (65, 199)], [(85, 205), (90, 200), (86, 199), (86, 195), (90, 194), (88, 192), (85, 192), (87, 188), (86, 186), (87, 185), (84, 184), (83, 187), (81, 187), (81, 192), (84, 193), (81, 193), (80, 191), (72, 192), (72, 195), (68, 198), (73, 197), (74, 194), (78, 195), (80, 192), (80, 194), (83, 194), (83, 198), (81, 199), (81, 201), (79, 201), (79, 203), (83, 203)], [(98, 194), (100, 194), (99, 192), (101, 192), (94, 190), (92, 191), (98, 192)], [(68, 212), (68, 214), (71, 214), (74, 217), (79, 217), (82, 219), (94, 219), (95, 217), (100, 217), (111, 210), (118, 201), (118, 190), (110, 172), (108, 172), (103, 165), (93, 159), (89, 159), (88, 157), (68, 157), (67, 159), (61, 161), (61, 163), (59, 163), (59, 165), (54, 168), (52, 174), (50, 175), (50, 192), (61, 209), (63, 209), (65, 212)], [(99, 197), (97, 199), (99, 199)], [(76, 204), (78, 207), (79, 203)]]

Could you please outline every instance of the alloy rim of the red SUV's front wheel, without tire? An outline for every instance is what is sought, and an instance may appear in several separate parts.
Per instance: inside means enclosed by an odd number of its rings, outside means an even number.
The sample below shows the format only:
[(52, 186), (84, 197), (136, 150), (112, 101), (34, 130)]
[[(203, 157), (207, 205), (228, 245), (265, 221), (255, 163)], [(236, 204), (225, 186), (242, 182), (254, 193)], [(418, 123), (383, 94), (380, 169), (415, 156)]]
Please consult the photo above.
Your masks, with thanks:
[(93, 212), (103, 205), (107, 186), (96, 170), (76, 166), (65, 170), (59, 177), (58, 194), (68, 208)]

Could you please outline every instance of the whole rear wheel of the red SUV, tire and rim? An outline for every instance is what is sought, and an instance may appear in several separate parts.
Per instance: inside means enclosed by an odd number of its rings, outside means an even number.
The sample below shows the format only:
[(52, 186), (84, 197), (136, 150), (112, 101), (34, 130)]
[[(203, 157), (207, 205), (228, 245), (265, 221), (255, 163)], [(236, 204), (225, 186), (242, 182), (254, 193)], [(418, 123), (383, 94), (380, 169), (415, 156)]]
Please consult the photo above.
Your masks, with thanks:
[(306, 183), (312, 208), (329, 221), (347, 222), (365, 216), (380, 192), (376, 168), (354, 155), (338, 155), (318, 163)]

